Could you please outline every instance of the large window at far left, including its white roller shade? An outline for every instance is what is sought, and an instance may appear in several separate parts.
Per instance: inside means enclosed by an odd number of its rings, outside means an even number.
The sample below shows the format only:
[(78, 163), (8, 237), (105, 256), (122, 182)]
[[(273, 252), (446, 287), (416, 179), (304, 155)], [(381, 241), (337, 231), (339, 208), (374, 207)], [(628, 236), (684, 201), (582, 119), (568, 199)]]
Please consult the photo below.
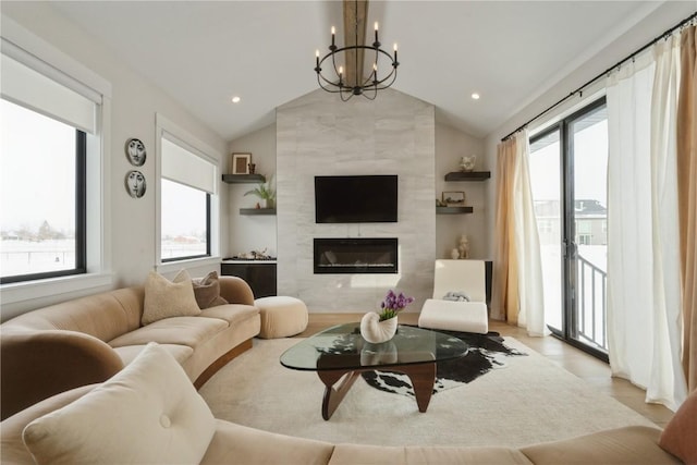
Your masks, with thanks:
[(1, 59), (0, 282), (86, 273), (87, 157), (99, 145), (89, 139), (100, 96), (64, 85), (70, 77), (4, 39)]

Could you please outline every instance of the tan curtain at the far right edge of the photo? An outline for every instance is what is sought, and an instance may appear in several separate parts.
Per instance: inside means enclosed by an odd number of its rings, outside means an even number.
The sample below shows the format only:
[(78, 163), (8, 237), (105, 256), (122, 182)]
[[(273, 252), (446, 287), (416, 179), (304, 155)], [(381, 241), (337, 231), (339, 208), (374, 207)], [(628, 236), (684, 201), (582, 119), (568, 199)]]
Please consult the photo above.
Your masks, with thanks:
[(677, 102), (677, 205), (683, 287), (683, 368), (688, 391), (697, 389), (697, 26), (681, 36)]

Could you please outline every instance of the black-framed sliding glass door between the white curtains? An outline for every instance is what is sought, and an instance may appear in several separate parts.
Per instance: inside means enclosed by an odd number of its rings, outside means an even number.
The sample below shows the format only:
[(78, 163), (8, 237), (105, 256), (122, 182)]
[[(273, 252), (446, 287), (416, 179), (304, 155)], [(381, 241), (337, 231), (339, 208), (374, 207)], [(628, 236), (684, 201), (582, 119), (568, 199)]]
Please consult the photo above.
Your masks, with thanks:
[(546, 322), (606, 359), (607, 166), (604, 99), (530, 138)]

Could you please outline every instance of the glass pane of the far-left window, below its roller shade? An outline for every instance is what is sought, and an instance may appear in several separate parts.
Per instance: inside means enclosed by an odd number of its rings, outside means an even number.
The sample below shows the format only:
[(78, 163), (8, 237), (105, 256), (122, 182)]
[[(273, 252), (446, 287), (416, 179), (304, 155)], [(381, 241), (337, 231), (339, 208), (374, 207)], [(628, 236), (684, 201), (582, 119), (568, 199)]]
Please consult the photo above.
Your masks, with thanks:
[(85, 272), (86, 134), (4, 99), (0, 112), (2, 282)]

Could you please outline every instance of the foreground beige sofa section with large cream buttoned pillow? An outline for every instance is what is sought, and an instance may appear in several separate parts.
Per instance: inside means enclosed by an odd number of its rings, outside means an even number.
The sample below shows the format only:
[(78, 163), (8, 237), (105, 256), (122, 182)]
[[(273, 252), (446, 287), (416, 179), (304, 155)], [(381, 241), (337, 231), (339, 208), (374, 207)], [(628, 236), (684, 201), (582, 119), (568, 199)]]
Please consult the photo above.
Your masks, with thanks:
[[(687, 463), (697, 461), (689, 455), (696, 453), (689, 450), (697, 437), (695, 417), (697, 393), (673, 419), (683, 423), (674, 426), (678, 441), (671, 446)], [(332, 444), (260, 431), (213, 418), (181, 367), (157, 344), (103, 384), (48, 399), (4, 420), (0, 431), (3, 464), (682, 463), (659, 445), (660, 429), (644, 426), (521, 449)], [(687, 449), (681, 449), (684, 444)]]

